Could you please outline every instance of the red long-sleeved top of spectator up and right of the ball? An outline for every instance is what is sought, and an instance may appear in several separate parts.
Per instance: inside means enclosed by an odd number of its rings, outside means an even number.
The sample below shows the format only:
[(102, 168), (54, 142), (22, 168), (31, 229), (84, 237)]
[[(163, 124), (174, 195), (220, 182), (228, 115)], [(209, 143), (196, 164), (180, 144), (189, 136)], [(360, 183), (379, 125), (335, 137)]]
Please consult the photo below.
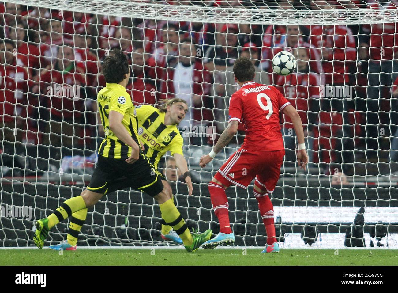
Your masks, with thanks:
[(317, 26), (311, 30), (311, 45), (322, 53), (322, 83), (343, 86), (349, 82), (348, 67), (357, 59), (355, 38), (347, 26)]

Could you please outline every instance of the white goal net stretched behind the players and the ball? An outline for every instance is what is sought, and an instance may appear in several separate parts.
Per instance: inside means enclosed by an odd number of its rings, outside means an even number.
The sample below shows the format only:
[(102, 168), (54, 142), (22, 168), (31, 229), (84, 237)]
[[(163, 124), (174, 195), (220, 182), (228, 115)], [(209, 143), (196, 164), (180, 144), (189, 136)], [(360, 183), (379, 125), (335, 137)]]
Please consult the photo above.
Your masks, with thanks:
[[(104, 131), (96, 96), (101, 63), (129, 57), (134, 104), (187, 101), (179, 124), (193, 181), (160, 162), (189, 228), (219, 232), (207, 184), (242, 144), (243, 128), (199, 167), (228, 121), (232, 65), (250, 57), (255, 81), (277, 87), (300, 114), (310, 163), (297, 166), (291, 121), (281, 116), (285, 161), (271, 195), (281, 247), (398, 247), (398, 1), (0, 2), (0, 246), (33, 246), (33, 221), (88, 185)], [(290, 51), (297, 70), (275, 75)], [(227, 190), (237, 246), (263, 246), (253, 194)], [(88, 210), (78, 246), (174, 246), (160, 237), (148, 195), (121, 190)], [(66, 239), (65, 220), (49, 244)]]

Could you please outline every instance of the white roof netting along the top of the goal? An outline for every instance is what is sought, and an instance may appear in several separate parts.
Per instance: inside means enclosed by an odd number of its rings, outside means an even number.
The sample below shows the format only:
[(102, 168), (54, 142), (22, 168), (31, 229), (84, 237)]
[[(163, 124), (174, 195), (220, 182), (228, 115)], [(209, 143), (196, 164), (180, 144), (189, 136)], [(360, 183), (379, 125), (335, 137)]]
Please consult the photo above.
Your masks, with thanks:
[[(11, 3), (128, 18), (240, 24), (376, 24), (397, 22), (396, 6), (362, 1), (108, 1), (11, 0)], [(169, 2), (174, 5), (164, 4)], [(395, 2), (395, 1), (392, 1)], [(189, 5), (191, 4), (191, 5)], [(201, 4), (201, 5), (200, 5)], [(216, 5), (213, 5), (216, 4)], [(283, 10), (282, 10), (283, 9)]]

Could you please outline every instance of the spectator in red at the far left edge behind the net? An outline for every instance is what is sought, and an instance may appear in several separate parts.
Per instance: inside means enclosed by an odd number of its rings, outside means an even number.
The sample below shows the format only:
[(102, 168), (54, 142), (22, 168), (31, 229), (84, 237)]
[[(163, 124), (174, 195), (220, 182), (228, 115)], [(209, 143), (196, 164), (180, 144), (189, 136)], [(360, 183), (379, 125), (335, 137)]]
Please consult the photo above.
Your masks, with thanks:
[[(24, 129), (26, 118), (26, 92), (28, 74), (23, 66), (17, 65), (14, 56), (15, 45), (10, 40), (0, 43), (0, 140), (14, 142), (14, 129)], [(25, 127), (24, 127), (25, 126)], [(3, 136), (4, 134), (4, 136)], [(21, 132), (16, 140), (21, 141)]]

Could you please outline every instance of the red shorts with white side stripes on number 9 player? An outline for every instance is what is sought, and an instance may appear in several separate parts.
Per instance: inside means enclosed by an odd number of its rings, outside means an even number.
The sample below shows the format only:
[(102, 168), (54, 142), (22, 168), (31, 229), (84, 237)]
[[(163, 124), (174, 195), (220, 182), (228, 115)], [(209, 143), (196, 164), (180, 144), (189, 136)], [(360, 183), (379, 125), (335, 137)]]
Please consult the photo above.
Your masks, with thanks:
[(238, 149), (214, 176), (226, 186), (235, 184), (247, 188), (254, 178), (268, 193), (272, 193), (281, 174), (285, 150), (248, 151)]

